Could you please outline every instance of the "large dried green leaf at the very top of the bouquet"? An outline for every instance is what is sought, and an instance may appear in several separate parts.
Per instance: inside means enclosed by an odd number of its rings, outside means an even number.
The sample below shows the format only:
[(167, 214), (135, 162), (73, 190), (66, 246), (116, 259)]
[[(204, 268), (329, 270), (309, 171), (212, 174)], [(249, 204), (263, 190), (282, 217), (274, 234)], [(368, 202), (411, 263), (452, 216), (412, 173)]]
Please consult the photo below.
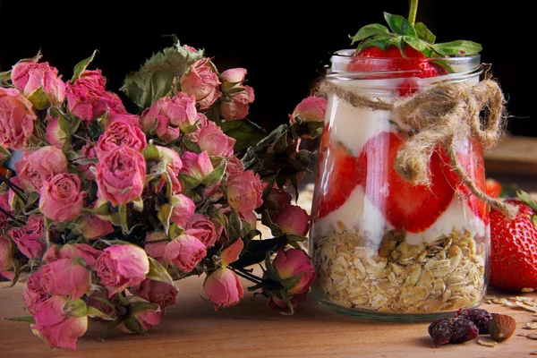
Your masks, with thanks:
[(151, 107), (171, 90), (175, 77), (188, 72), (202, 56), (201, 51), (192, 53), (183, 47), (167, 47), (152, 55), (138, 72), (127, 75), (121, 90), (136, 106)]

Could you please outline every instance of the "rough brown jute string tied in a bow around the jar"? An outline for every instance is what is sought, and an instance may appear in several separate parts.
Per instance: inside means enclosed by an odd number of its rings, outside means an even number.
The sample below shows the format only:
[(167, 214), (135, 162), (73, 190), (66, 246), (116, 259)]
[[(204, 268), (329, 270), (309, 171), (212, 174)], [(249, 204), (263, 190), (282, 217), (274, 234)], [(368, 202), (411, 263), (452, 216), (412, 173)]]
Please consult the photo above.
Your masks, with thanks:
[(330, 81), (321, 81), (316, 92), (320, 96), (336, 95), (354, 107), (392, 111), (397, 125), (411, 129), (394, 165), (406, 180), (430, 185), (430, 157), (435, 148), (442, 146), (451, 167), (473, 195), (507, 217), (516, 216), (516, 206), (492, 198), (477, 187), (456, 155), (457, 138), (479, 141), (484, 149), (492, 148), (501, 138), (506, 101), (496, 81), (484, 80), (474, 86), (464, 82), (440, 83), (393, 103), (355, 94)]

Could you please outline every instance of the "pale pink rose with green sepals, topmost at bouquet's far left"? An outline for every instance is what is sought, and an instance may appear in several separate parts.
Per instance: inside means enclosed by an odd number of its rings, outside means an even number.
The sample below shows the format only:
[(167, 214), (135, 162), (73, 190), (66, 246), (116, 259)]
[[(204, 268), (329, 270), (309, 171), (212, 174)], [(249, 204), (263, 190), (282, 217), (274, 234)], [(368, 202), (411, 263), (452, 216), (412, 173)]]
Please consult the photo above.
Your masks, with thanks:
[(58, 77), (58, 70), (47, 62), (19, 62), (13, 66), (11, 77), (13, 85), (21, 90), (37, 109), (60, 107), (64, 102), (65, 83), (62, 76)]

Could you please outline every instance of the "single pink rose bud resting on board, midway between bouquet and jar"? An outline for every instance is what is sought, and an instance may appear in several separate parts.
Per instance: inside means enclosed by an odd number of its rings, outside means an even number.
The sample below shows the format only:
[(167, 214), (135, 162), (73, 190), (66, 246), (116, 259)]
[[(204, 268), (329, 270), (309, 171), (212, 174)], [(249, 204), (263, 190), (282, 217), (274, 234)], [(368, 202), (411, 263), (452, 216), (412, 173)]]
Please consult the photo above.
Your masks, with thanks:
[(229, 268), (217, 268), (205, 279), (203, 289), (215, 304), (215, 310), (239, 303), (244, 295), (239, 277)]

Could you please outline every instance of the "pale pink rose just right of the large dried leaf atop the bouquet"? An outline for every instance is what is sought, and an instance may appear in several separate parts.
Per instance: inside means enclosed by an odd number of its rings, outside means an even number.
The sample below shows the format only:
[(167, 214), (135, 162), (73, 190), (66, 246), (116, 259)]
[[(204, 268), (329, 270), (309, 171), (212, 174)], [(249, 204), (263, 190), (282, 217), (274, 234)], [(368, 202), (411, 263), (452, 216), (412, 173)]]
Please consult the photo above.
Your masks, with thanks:
[(212, 72), (209, 58), (202, 58), (192, 64), (190, 72), (181, 77), (181, 90), (193, 95), (200, 105), (200, 109), (209, 108), (222, 96), (218, 90), (220, 81), (217, 73)]

